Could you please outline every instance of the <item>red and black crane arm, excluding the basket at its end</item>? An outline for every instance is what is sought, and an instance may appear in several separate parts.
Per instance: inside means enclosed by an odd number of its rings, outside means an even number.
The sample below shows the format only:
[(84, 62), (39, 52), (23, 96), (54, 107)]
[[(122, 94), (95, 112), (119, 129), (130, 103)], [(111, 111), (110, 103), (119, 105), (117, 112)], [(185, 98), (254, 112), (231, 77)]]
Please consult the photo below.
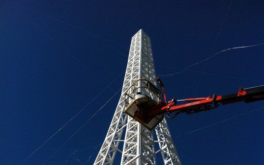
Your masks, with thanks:
[[(156, 106), (152, 107), (148, 112), (149, 117), (154, 117), (158, 114), (167, 113), (169, 118), (174, 118), (180, 113), (193, 114), (201, 111), (207, 111), (216, 108), (222, 103), (230, 104), (239, 101), (244, 101), (246, 103), (264, 100), (264, 85), (258, 87), (252, 87), (243, 89), (240, 87), (238, 92), (234, 94), (226, 95), (216, 95), (213, 94), (212, 97), (202, 97), (202, 98), (186, 98), (184, 100), (172, 99), (169, 102), (166, 101), (165, 87), (161, 82), (161, 79), (157, 78), (158, 83), (162, 84), (161, 89), (165, 102), (161, 101)], [(186, 101), (188, 103), (176, 105), (177, 101)], [(176, 112), (173, 116), (170, 116), (172, 112)]]

